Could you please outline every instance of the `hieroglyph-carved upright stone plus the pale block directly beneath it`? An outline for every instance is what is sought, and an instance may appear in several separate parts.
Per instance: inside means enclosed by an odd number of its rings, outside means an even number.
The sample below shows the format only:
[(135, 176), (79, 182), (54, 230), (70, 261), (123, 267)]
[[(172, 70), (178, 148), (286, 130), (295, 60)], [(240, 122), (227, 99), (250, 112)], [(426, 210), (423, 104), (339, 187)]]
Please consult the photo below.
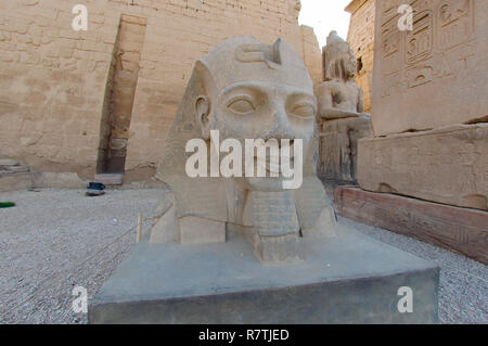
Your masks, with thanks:
[(372, 120), (361, 188), (488, 210), (488, 2), (376, 1)]

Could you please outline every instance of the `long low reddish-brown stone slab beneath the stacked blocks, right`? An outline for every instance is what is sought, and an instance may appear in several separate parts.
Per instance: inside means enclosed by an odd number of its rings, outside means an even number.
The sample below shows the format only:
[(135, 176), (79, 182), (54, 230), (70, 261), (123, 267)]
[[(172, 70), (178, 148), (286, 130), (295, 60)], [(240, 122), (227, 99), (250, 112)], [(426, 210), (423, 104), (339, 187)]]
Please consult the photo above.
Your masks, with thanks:
[(339, 187), (337, 214), (446, 247), (488, 265), (488, 213)]

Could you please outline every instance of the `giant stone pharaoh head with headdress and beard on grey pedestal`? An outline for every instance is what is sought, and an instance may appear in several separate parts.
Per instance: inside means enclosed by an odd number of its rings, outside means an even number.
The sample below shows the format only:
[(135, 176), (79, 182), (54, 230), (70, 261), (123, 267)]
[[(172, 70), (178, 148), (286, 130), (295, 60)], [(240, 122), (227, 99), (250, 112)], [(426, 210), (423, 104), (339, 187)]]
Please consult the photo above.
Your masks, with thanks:
[[(175, 223), (176, 231), (169, 238), (153, 238), (205, 242), (205, 234), (213, 233), (213, 229), (223, 230), (227, 235), (231, 229), (239, 229), (252, 241), (261, 260), (288, 261), (300, 257), (300, 236), (332, 234), (334, 213), (316, 174), (316, 113), (311, 78), (284, 40), (265, 46), (244, 36), (214, 48), (194, 66), (156, 175), (174, 193), (177, 222), (169, 223)], [(207, 144), (207, 164), (205, 175), (190, 177), (187, 165), (193, 154), (187, 150), (195, 139)], [(287, 158), (295, 171), (297, 166), (300, 168), (299, 184), (284, 189), (286, 177), (279, 170), (273, 177), (256, 177), (247, 171), (231, 177), (219, 174), (218, 165), (229, 152), (220, 143), (232, 140), (244, 149), (246, 140), (255, 139), (290, 143)], [(296, 142), (301, 143), (300, 148)], [(237, 157), (246, 170), (249, 157)], [(252, 169), (257, 169), (260, 163), (254, 149), (251, 161)], [(267, 172), (272, 170), (268, 156), (265, 164), (269, 165)], [(201, 232), (202, 228), (207, 229)], [(226, 234), (207, 236), (208, 242), (222, 239)]]

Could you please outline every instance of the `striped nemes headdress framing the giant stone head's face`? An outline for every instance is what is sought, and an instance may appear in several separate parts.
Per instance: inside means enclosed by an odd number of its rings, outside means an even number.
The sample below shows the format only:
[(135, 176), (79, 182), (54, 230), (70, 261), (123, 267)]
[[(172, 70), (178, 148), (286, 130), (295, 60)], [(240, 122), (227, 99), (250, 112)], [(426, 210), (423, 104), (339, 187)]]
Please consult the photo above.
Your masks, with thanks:
[[(185, 144), (190, 139), (202, 137), (195, 111), (198, 95), (218, 93), (230, 85), (249, 80), (271, 80), (303, 90), (305, 88), (305, 91), (313, 93), (313, 82), (301, 57), (282, 39), (266, 46), (251, 36), (231, 38), (197, 61), (166, 137), (165, 153), (156, 174), (156, 178), (171, 188), (178, 217), (198, 216), (217, 221), (237, 221), (233, 215), (239, 213), (231, 210), (235, 203), (227, 202), (239, 194), (232, 179), (188, 177), (185, 162), (192, 153), (185, 152)], [(303, 225), (314, 222), (312, 219), (320, 215), (325, 201), (323, 188), (316, 176), (316, 163), (317, 153), (305, 153), (304, 188), (294, 192), (296, 201), (301, 201), (296, 204), (297, 212), (303, 215), (299, 217)], [(303, 202), (310, 198), (313, 200), (312, 207)]]

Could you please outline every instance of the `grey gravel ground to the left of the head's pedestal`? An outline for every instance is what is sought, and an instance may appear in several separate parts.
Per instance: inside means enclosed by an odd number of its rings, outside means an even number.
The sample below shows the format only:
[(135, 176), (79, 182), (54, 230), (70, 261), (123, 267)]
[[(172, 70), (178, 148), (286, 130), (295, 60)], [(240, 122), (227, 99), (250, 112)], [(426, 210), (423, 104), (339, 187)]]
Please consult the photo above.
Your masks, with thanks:
[(86, 323), (72, 309), (74, 286), (91, 297), (136, 243), (138, 214), (147, 230), (160, 190), (0, 193), (0, 322)]

